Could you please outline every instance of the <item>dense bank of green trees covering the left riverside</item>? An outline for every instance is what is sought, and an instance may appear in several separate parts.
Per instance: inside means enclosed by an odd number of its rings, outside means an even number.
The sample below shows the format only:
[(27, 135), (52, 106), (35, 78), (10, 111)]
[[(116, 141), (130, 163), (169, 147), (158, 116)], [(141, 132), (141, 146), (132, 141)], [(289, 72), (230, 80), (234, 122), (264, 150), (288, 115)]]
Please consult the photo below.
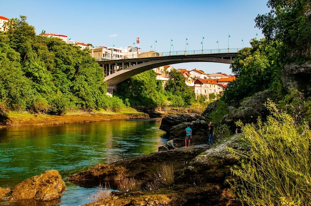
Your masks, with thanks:
[(26, 17), (0, 33), (0, 103), (3, 109), (63, 114), (68, 109), (119, 109), (106, 96), (102, 68), (79, 47), (36, 35)]

